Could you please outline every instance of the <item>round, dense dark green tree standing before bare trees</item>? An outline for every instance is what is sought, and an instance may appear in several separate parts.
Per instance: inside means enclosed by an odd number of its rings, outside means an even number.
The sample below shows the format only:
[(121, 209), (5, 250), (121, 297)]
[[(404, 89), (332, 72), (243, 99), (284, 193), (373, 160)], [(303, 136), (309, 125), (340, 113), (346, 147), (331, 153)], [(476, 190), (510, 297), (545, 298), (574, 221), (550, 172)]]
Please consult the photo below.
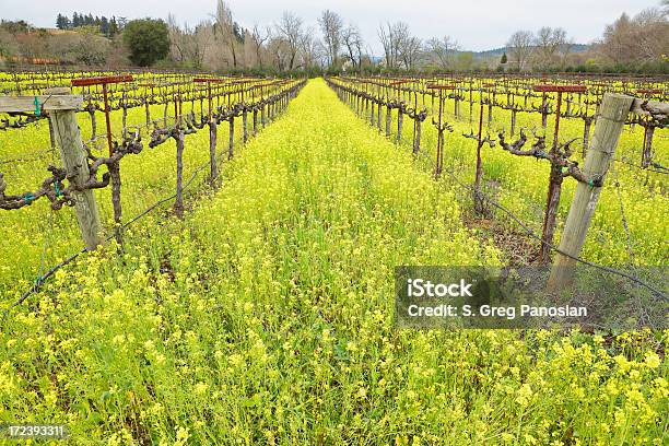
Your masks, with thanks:
[(162, 20), (130, 21), (122, 35), (130, 60), (137, 66), (150, 67), (169, 54), (169, 32)]

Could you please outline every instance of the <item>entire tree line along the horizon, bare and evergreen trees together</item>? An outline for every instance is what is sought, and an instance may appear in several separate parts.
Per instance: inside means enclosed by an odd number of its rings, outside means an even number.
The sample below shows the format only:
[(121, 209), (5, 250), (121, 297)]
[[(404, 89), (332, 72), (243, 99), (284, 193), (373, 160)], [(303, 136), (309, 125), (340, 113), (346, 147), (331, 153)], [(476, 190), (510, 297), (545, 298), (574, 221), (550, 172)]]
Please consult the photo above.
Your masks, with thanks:
[[(466, 51), (449, 35), (420, 38), (403, 21), (380, 23), (380, 55), (360, 27), (332, 10), (316, 23), (285, 11), (273, 23), (240, 25), (224, 0), (195, 25), (161, 19), (58, 14), (54, 35), (24, 22), (0, 24), (0, 56), (54, 57), (64, 63), (227, 72), (309, 73), (447, 71), (644, 71), (669, 72), (669, 0), (635, 16), (623, 13), (583, 50), (561, 27), (520, 30), (500, 51)], [(578, 49), (578, 50), (575, 50)], [(502, 54), (503, 52), (503, 54)]]

